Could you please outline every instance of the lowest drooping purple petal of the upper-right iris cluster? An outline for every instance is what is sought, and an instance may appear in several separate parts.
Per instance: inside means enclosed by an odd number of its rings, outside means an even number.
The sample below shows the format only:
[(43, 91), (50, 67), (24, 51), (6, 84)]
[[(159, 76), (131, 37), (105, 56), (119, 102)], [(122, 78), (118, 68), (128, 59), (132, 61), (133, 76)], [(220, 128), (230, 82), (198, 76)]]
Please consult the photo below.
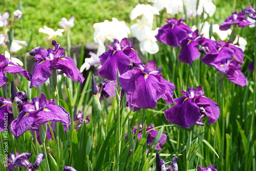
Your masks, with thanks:
[(227, 72), (227, 79), (241, 87), (244, 87), (247, 84), (247, 77), (239, 70), (233, 70), (230, 68)]

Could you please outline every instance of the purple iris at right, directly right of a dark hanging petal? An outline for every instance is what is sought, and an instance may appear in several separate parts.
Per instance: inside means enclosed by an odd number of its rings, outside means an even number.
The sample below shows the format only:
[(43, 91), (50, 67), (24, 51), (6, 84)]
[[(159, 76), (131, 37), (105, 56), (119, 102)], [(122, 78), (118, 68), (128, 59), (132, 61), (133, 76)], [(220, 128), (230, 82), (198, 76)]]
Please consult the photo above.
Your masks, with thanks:
[(201, 58), (201, 61), (206, 65), (210, 65), (210, 63), (214, 61), (220, 61), (225, 58), (231, 58), (232, 56), (238, 62), (244, 63), (244, 54), (242, 49), (230, 44), (230, 40), (227, 42), (217, 42), (214, 40), (204, 39), (200, 41), (200, 44), (207, 48), (207, 50), (205, 51), (206, 55)]

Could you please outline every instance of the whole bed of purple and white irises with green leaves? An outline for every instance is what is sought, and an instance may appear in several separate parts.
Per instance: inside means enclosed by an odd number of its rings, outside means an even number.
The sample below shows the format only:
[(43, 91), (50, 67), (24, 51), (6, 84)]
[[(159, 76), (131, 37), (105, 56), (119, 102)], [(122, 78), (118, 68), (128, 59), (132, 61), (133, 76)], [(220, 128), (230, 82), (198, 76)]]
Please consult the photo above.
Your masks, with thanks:
[(76, 16), (14, 57), (28, 46), (15, 40), (23, 12), (0, 11), (0, 170), (256, 170), (256, 11), (244, 6), (218, 25), (212, 1), (141, 2), (131, 27), (92, 26), (85, 59), (70, 56)]

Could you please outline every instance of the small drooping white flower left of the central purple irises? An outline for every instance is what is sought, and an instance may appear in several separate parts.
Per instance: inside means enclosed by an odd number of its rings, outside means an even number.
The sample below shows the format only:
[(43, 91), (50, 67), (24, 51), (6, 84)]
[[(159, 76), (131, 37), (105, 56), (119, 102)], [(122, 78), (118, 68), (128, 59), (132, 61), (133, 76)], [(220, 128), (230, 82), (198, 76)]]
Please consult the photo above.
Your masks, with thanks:
[(94, 66), (97, 70), (101, 68), (99, 56), (93, 52), (89, 52), (91, 55), (90, 58), (85, 58), (84, 63), (80, 68), (80, 72), (82, 73), (85, 70), (89, 70), (91, 66)]

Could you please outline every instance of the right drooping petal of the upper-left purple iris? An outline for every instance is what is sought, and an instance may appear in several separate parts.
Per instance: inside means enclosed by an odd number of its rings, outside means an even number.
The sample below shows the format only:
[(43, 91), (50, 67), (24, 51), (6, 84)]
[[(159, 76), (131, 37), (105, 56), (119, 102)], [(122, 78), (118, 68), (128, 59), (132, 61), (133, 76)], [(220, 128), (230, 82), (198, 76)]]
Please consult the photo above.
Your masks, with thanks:
[(70, 57), (61, 57), (56, 63), (54, 61), (53, 68), (63, 71), (69, 78), (73, 79), (73, 81), (80, 83), (84, 81), (84, 77), (76, 67), (74, 60)]

